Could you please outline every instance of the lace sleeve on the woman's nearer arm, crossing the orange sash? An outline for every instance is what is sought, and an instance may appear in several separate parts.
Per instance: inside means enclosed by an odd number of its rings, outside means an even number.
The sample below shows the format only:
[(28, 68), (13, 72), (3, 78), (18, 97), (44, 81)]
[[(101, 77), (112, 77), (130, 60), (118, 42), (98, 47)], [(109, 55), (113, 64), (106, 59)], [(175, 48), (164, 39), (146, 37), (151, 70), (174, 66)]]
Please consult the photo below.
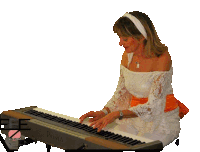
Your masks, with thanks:
[(170, 74), (170, 72), (156, 74), (152, 82), (148, 102), (129, 108), (144, 122), (161, 120), (166, 105), (167, 88), (171, 84)]

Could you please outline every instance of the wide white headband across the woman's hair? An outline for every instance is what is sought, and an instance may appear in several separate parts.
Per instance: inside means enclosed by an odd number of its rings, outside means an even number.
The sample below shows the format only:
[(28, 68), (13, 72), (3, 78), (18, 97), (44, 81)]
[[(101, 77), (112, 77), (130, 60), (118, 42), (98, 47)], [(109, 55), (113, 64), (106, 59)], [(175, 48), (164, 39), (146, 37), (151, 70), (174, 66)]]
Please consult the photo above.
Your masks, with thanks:
[(142, 35), (147, 39), (147, 33), (144, 29), (144, 26), (135, 16), (133, 16), (129, 13), (125, 13), (123, 16), (128, 17), (135, 24), (135, 26), (140, 31), (140, 33), (142, 33)]

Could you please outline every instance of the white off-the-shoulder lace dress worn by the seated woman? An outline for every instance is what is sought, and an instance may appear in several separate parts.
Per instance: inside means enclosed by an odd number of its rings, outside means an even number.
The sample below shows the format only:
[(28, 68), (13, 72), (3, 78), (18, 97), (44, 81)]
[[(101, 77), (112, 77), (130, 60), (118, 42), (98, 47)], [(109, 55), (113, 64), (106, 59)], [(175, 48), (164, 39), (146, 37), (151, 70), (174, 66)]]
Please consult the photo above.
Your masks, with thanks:
[[(128, 53), (128, 66), (133, 53)], [(163, 147), (179, 137), (180, 117), (179, 107), (164, 112), (166, 96), (173, 94), (173, 67), (169, 71), (133, 72), (120, 64), (120, 77), (113, 97), (107, 102), (111, 112), (130, 110), (137, 114), (136, 118), (116, 119), (115, 122), (122, 131), (160, 140)], [(130, 107), (131, 95), (137, 98), (148, 98), (145, 104)], [(151, 110), (148, 111), (147, 109)]]

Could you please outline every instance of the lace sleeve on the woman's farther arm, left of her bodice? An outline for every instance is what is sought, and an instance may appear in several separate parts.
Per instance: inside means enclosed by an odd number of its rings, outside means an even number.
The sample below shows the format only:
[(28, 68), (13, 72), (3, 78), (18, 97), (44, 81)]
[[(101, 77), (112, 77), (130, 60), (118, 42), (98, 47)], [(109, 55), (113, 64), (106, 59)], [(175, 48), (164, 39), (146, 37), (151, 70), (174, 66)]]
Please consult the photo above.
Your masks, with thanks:
[(120, 66), (120, 77), (118, 81), (118, 85), (116, 91), (112, 98), (107, 102), (105, 107), (108, 107), (111, 112), (117, 110), (124, 110), (129, 108), (129, 103), (125, 103), (126, 101), (130, 101), (132, 95), (128, 92), (125, 87), (125, 79), (123, 76), (122, 68)]

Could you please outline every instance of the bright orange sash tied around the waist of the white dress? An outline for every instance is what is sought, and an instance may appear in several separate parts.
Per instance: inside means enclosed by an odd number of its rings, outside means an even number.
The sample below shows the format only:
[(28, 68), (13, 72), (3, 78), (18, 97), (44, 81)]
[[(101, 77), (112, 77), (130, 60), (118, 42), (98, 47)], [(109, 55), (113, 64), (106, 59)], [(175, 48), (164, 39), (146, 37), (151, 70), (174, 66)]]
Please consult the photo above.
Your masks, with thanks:
[[(137, 98), (132, 97), (131, 107), (137, 106), (138, 104), (145, 104), (148, 98)], [(174, 97), (174, 94), (169, 94), (166, 96), (166, 106), (164, 112), (172, 111), (179, 106), (179, 116), (181, 119), (189, 112), (189, 109)]]

